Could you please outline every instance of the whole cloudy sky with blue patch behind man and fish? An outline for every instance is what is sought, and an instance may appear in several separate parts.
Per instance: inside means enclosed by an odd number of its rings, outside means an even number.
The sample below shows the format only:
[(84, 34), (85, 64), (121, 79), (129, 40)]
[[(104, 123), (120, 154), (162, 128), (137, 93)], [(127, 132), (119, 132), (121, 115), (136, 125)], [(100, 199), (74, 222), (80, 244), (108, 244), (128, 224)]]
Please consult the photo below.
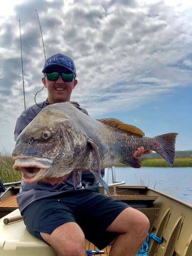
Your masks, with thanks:
[[(185, 0), (6, 0), (0, 10), (0, 152), (12, 151), (17, 117), (41, 89), (45, 56), (77, 68), (72, 100), (93, 118), (116, 117), (146, 136), (178, 132), (192, 150), (192, 2)], [(37, 12), (35, 11), (37, 10)], [(40, 102), (44, 89), (37, 94)]]

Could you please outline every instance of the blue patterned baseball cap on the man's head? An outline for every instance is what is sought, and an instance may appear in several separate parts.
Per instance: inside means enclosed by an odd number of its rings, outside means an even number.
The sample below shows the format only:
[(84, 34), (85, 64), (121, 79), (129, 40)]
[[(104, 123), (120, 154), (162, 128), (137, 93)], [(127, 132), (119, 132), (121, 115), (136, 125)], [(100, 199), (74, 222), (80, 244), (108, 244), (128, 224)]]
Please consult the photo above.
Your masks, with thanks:
[(42, 70), (42, 73), (46, 73), (52, 66), (64, 67), (64, 68), (72, 71), (72, 73), (74, 73), (74, 75), (76, 77), (75, 63), (73, 62), (73, 60), (70, 57), (68, 57), (66, 55), (57, 53), (57, 54), (49, 57), (48, 59), (46, 59), (45, 66), (44, 66), (44, 69)]

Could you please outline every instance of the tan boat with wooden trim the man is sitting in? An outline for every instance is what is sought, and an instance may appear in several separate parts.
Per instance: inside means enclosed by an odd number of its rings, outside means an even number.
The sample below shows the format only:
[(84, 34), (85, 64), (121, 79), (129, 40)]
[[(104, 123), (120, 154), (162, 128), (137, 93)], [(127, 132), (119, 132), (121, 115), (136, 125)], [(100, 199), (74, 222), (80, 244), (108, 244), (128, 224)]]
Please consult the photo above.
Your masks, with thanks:
[[(104, 193), (102, 187), (99, 191)], [(154, 240), (149, 242), (149, 256), (192, 255), (192, 205), (146, 186), (113, 185), (110, 186), (110, 192), (117, 200), (122, 200), (142, 211), (150, 220), (150, 233), (153, 232), (163, 239), (161, 244)], [(1, 203), (3, 202), (4, 200)], [(19, 210), (14, 209), (0, 219), (0, 255), (55, 255), (50, 246), (27, 231), (23, 220), (4, 224), (5, 218), (18, 215)], [(97, 249), (89, 241), (86, 241), (86, 248)], [(105, 254), (101, 255), (109, 255), (110, 245), (103, 250)]]

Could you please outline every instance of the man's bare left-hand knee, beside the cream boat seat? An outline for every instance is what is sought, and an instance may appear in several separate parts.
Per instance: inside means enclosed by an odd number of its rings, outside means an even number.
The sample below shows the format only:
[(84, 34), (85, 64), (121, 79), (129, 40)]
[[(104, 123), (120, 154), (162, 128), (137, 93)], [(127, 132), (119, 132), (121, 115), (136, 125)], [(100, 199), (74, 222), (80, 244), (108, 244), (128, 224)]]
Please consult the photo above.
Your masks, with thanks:
[(57, 256), (86, 256), (85, 238), (75, 222), (68, 222), (55, 228), (51, 234), (40, 232), (57, 253)]

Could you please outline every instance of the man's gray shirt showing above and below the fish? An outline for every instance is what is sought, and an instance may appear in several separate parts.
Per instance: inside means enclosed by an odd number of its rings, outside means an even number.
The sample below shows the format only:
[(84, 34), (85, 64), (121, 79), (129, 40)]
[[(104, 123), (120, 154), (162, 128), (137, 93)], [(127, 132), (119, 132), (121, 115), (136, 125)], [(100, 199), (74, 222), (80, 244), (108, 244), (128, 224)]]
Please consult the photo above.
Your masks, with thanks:
[[(80, 111), (88, 115), (88, 112), (80, 108), (80, 105), (77, 102), (71, 101), (71, 103), (74, 104), (76, 108), (78, 108)], [(49, 105), (48, 101), (40, 102), (38, 104), (30, 106), (22, 112), (22, 114), (18, 117), (16, 121), (14, 132), (15, 140), (17, 139), (18, 135), (24, 130), (24, 128), (35, 118), (35, 116), (38, 115), (38, 113), (42, 109), (46, 108), (47, 105)], [(78, 174), (77, 189), (82, 189), (81, 172), (79, 172)], [(20, 211), (22, 211), (27, 205), (29, 205), (33, 201), (47, 198), (50, 196), (55, 196), (69, 190), (74, 190), (73, 173), (70, 174), (67, 180), (56, 185), (51, 185), (50, 183), (45, 183), (41, 181), (27, 184), (22, 180), (22, 185), (17, 195), (18, 208)]]

